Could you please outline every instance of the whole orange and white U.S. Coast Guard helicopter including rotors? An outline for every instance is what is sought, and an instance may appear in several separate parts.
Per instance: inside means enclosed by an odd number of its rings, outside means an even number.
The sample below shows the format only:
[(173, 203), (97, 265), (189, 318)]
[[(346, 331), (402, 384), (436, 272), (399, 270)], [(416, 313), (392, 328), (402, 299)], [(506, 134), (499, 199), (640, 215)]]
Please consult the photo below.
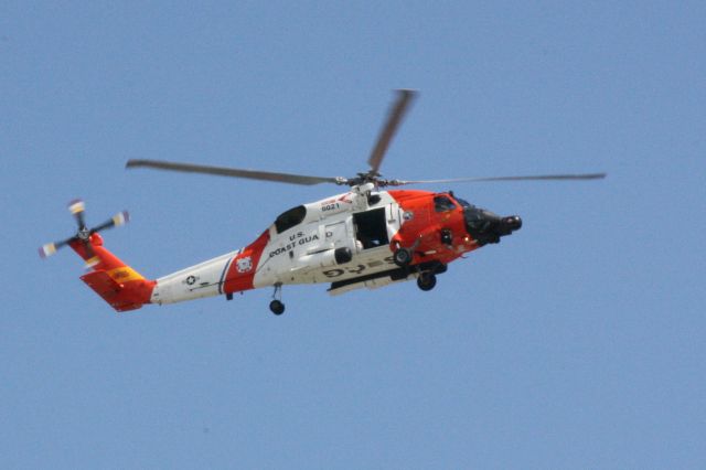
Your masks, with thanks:
[(211, 296), (274, 287), (269, 305), (275, 314), (285, 311), (281, 287), (330, 282), (329, 292), (377, 288), (416, 279), (430, 290), (449, 263), (486, 244), (500, 242), (522, 226), (517, 215), (499, 216), (457, 197), (453, 192), (391, 190), (422, 183), (520, 180), (591, 180), (605, 173), (534, 177), (459, 178), (450, 180), (387, 180), (378, 173), (387, 147), (415, 92), (397, 90), (385, 126), (368, 159), (370, 170), (354, 178), (311, 175), (206, 167), (156, 160), (130, 160), (127, 168), (152, 168), (292, 184), (333, 183), (349, 191), (298, 205), (280, 214), (255, 242), (199, 265), (158, 279), (147, 279), (103, 245), (98, 232), (122, 225), (128, 213), (88, 228), (84, 203), (69, 203), (78, 232), (40, 248), (42, 257), (71, 246), (89, 269), (81, 279), (117, 311), (146, 303), (173, 303)]

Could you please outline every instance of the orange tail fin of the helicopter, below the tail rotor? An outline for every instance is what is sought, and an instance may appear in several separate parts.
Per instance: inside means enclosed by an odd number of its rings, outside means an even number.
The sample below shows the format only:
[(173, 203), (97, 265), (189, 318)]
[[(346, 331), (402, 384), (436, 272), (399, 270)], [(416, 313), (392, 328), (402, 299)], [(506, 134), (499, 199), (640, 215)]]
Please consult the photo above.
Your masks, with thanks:
[(82, 276), (81, 280), (119, 312), (139, 309), (150, 302), (156, 281), (145, 279), (108, 252), (103, 246), (103, 237), (97, 233), (90, 235), (88, 243), (89, 246), (78, 239), (68, 243), (93, 269)]

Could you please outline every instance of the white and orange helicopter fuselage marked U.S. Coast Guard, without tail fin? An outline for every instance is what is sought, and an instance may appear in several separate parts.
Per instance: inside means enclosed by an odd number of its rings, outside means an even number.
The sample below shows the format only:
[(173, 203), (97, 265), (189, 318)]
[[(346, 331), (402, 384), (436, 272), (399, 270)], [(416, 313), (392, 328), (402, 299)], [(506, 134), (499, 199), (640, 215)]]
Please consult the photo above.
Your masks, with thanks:
[[(286, 211), (243, 249), (157, 279), (150, 301), (319, 282), (331, 282), (329, 292), (335, 295), (442, 273), (488, 243), (469, 233), (472, 210), (479, 211), (452, 193), (354, 188)], [(396, 263), (399, 249), (410, 254), (407, 263)]]

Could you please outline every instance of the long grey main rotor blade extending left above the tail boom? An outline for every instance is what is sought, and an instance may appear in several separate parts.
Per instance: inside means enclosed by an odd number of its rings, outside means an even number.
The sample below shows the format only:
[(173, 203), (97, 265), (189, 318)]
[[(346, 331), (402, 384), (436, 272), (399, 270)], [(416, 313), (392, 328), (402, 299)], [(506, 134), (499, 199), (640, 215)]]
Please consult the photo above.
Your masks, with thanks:
[(308, 174), (276, 173), (270, 171), (244, 170), (239, 168), (210, 167), (205, 164), (176, 163), (161, 160), (128, 160), (125, 168), (153, 168), (157, 170), (183, 171), (185, 173), (217, 174), (220, 177), (246, 178), (249, 180), (274, 181), (291, 184), (345, 184), (345, 178), (311, 177)]

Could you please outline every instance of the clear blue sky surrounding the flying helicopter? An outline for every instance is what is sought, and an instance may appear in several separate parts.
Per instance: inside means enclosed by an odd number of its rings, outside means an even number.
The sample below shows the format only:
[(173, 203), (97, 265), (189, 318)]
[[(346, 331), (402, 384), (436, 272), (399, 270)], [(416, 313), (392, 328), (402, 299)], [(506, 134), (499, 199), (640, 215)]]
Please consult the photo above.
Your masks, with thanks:
[[(703, 2), (0, 6), (4, 468), (704, 468)], [(116, 316), (66, 203), (159, 277), (336, 188), (131, 158), (352, 175), (607, 171), (453, 189), (522, 231), (413, 282)]]

